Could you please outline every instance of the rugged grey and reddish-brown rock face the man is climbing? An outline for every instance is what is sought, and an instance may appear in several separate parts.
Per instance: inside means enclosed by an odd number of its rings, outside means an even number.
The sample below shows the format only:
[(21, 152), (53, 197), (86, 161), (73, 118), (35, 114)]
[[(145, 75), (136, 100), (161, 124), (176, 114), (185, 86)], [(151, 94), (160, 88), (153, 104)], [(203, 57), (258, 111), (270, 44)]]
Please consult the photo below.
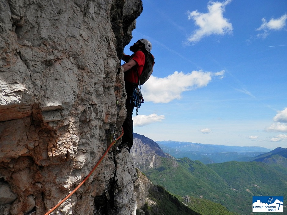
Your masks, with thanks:
[[(141, 0), (1, 0), (0, 214), (45, 214), (120, 136), (120, 59), (141, 12)], [(137, 174), (115, 148), (52, 214), (135, 214)]]

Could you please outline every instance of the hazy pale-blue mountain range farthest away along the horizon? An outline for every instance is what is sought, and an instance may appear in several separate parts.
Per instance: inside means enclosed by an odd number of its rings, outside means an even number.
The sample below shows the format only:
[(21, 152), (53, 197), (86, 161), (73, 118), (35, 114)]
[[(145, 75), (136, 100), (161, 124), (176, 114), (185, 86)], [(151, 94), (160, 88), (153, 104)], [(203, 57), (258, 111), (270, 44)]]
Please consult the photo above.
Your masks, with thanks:
[(192, 142), (157, 141), (160, 148), (175, 158), (187, 157), (204, 164), (227, 161), (251, 161), (254, 157), (270, 152), (270, 149), (256, 146), (226, 146)]

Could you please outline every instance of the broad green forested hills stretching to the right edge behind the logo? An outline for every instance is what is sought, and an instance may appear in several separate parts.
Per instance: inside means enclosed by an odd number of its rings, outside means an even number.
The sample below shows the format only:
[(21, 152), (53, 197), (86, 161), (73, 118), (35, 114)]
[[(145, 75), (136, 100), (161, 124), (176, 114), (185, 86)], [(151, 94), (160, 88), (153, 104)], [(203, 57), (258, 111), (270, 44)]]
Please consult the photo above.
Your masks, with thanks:
[[(204, 165), (188, 158), (161, 158), (157, 168), (142, 170), (154, 184), (177, 195), (201, 197), (240, 214), (252, 213), (252, 196), (287, 196), (287, 179), (260, 162), (226, 162)], [(272, 214), (272, 213), (268, 213)]]

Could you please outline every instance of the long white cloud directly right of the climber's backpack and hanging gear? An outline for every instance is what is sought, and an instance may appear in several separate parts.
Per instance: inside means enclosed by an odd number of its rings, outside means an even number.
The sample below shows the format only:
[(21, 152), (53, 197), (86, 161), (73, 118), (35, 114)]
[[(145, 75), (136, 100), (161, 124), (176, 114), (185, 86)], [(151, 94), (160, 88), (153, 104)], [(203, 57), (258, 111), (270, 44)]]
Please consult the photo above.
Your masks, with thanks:
[(223, 76), (224, 70), (219, 73), (204, 72), (202, 70), (187, 74), (174, 72), (164, 78), (151, 76), (149, 81), (142, 87), (142, 95), (145, 101), (168, 103), (174, 99), (180, 99), (181, 93), (184, 91), (205, 87), (212, 80), (212, 76), (219, 75)]

